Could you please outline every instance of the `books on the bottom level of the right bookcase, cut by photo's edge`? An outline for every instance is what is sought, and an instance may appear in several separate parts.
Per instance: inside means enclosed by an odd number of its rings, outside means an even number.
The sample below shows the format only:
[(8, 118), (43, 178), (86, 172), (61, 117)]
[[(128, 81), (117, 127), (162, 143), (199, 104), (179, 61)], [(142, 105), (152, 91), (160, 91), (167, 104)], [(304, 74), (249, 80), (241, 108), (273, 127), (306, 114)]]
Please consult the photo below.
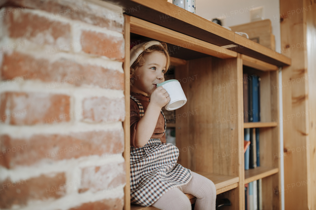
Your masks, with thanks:
[(263, 210), (262, 179), (245, 184), (245, 210)]

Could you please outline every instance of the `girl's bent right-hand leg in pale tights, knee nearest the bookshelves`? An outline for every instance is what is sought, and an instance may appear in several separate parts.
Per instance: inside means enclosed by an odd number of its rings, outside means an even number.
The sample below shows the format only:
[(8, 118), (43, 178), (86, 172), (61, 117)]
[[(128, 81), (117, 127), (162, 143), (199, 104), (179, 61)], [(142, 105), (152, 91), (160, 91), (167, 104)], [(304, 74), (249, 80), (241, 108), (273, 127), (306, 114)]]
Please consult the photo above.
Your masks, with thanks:
[(208, 178), (192, 172), (193, 177), (188, 184), (179, 189), (183, 193), (189, 193), (197, 197), (194, 210), (215, 210), (216, 188), (215, 184)]

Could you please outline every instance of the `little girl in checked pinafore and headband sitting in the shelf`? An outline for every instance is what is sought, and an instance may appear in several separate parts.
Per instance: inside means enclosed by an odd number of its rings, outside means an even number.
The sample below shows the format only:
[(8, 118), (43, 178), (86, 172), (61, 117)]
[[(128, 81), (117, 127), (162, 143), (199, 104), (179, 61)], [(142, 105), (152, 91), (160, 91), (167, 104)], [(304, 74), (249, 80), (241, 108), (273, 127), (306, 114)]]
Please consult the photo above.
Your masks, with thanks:
[(170, 97), (157, 83), (170, 65), (167, 44), (131, 44), (131, 203), (159, 209), (191, 210), (185, 193), (197, 197), (195, 210), (215, 210), (214, 183), (177, 163), (179, 149), (166, 143), (161, 110)]

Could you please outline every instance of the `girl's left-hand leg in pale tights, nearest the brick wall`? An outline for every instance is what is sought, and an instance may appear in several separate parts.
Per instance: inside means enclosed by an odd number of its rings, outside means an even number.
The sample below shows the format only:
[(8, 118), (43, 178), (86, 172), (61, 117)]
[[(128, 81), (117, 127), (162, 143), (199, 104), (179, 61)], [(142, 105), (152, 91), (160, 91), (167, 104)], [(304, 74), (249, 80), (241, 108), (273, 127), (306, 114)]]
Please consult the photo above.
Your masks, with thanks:
[(189, 198), (176, 187), (163, 194), (152, 206), (161, 210), (191, 210)]

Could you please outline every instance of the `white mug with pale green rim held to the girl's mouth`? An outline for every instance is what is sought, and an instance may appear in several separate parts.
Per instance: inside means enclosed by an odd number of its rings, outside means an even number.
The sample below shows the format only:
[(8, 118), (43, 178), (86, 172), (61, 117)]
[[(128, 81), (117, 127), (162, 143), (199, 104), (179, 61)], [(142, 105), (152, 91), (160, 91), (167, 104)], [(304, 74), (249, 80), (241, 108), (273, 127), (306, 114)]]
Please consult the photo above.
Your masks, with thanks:
[(178, 80), (169, 79), (162, 83), (158, 83), (157, 87), (159, 86), (166, 89), (170, 97), (170, 101), (165, 105), (166, 110), (175, 110), (185, 105), (187, 100)]

